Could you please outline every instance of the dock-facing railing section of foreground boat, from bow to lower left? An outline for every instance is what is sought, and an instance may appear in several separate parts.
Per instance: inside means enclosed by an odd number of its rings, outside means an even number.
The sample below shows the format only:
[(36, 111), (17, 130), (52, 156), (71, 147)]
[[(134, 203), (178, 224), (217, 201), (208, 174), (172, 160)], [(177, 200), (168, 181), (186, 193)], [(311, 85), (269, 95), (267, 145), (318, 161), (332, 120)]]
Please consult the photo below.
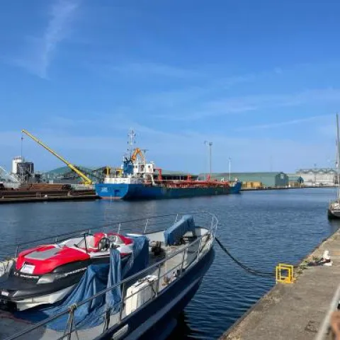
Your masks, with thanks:
[[(126, 322), (128, 322), (128, 319), (138, 312), (142, 307), (145, 307), (145, 305), (149, 304), (154, 300), (159, 294), (162, 293), (162, 290), (165, 290), (168, 288), (172, 283), (176, 282), (181, 276), (183, 276), (186, 273), (186, 269), (193, 266), (194, 263), (197, 263), (200, 261), (200, 259), (205, 256), (205, 254), (208, 253), (208, 251), (212, 248), (212, 244), (216, 237), (216, 230), (218, 225), (218, 220), (215, 215), (212, 215), (208, 213), (211, 217), (211, 224), (210, 228), (207, 230), (207, 232), (200, 234), (191, 243), (188, 243), (186, 245), (181, 246), (181, 248), (177, 251), (171, 251), (171, 253), (168, 254), (168, 251), (166, 251), (164, 259), (157, 261), (156, 263), (152, 264), (151, 266), (148, 266), (144, 270), (135, 273), (132, 276), (129, 276), (128, 278), (125, 278), (121, 280), (119, 283), (112, 285), (111, 287), (106, 288), (105, 290), (102, 290), (99, 293), (96, 293), (95, 295), (87, 298), (86, 300), (77, 302), (77, 304), (70, 305), (62, 312), (59, 312), (52, 317), (48, 317), (47, 319), (43, 320), (42, 322), (37, 322), (30, 327), (27, 327), (26, 329), (23, 329), (22, 331), (19, 331), (16, 334), (13, 334), (12, 336), (9, 336), (6, 338), (6, 340), (13, 340), (13, 339), (28, 339), (28, 334), (35, 331), (47, 331), (48, 324), (51, 322), (55, 322), (57, 319), (60, 319), (62, 317), (65, 317), (65, 315), (68, 314), (67, 320), (65, 320), (65, 327), (63, 331), (55, 332), (53, 334), (53, 331), (51, 331), (51, 334), (48, 334), (48, 339), (74, 339), (72, 335), (75, 335), (75, 339), (94, 339), (98, 336), (101, 336), (102, 334), (106, 333), (108, 329), (111, 327), (115, 327), (115, 330), (119, 334), (121, 329), (125, 327)], [(181, 214), (179, 214), (181, 215)], [(178, 257), (179, 261), (174, 261), (174, 259)], [(154, 275), (157, 273), (156, 275)], [(142, 290), (152, 289), (152, 295), (149, 297), (149, 299), (142, 302), (141, 305), (137, 306), (135, 310), (131, 310), (128, 314), (126, 313), (126, 304), (129, 299), (132, 299), (134, 295), (137, 293), (140, 293), (141, 290), (136, 291), (135, 293), (132, 293), (130, 295), (127, 294), (128, 288), (133, 284), (136, 283), (137, 280), (140, 280), (141, 278), (145, 278), (146, 276), (154, 275), (156, 280), (147, 282), (147, 285), (145, 285)], [(86, 329), (81, 329), (81, 327), (77, 328), (77, 318), (75, 317), (75, 313), (77, 313), (77, 309), (79, 307), (84, 306), (88, 304), (91, 305), (91, 302), (94, 299), (97, 299), (98, 297), (102, 297), (108, 292), (111, 292), (113, 290), (117, 290), (119, 288), (122, 298), (119, 302), (116, 302), (114, 305), (111, 305), (110, 307), (106, 307), (103, 310), (103, 313), (101, 314), (102, 322), (98, 326), (94, 327), (96, 328), (96, 332), (98, 334), (94, 334), (93, 329), (91, 331), (91, 334), (88, 334), (90, 336), (89, 338), (84, 334)], [(105, 297), (104, 297), (105, 299)], [(131, 301), (131, 300), (130, 300)], [(115, 323), (111, 324), (111, 317), (115, 315)], [(66, 319), (66, 318), (65, 318)], [(120, 327), (121, 326), (121, 327)], [(115, 331), (114, 330), (114, 331)], [(79, 332), (81, 331), (81, 335), (79, 335)], [(112, 330), (111, 330), (112, 331)], [(112, 339), (115, 339), (115, 334), (113, 334)], [(33, 334), (32, 334), (33, 335)], [(40, 336), (42, 334), (40, 333)], [(55, 338), (52, 338), (51, 336), (55, 335)]]

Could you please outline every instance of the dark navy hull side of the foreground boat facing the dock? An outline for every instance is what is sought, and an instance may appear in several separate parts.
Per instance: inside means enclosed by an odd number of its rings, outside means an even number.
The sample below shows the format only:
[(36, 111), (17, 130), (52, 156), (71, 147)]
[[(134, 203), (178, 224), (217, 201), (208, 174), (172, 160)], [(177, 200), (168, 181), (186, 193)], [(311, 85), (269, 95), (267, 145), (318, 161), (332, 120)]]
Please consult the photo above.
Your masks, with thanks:
[(124, 322), (108, 329), (97, 339), (164, 339), (162, 331), (169, 334), (168, 329), (157, 327), (166, 320), (176, 317), (191, 301), (203, 276), (210, 268), (215, 258), (213, 248), (208, 251), (195, 266), (188, 268), (180, 280), (175, 280), (168, 288), (162, 290), (156, 299), (142, 307), (138, 312), (132, 313)]

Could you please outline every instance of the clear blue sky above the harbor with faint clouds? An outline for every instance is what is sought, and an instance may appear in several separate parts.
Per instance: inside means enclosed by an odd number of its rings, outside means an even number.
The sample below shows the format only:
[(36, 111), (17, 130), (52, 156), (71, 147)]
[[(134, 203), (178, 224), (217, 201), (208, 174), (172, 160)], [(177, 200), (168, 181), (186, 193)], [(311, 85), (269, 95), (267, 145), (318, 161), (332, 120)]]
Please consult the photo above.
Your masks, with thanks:
[[(0, 12), (0, 164), (21, 129), (119, 165), (134, 128), (164, 169), (332, 166), (339, 1), (17, 0)], [(62, 166), (26, 137), (40, 170)]]

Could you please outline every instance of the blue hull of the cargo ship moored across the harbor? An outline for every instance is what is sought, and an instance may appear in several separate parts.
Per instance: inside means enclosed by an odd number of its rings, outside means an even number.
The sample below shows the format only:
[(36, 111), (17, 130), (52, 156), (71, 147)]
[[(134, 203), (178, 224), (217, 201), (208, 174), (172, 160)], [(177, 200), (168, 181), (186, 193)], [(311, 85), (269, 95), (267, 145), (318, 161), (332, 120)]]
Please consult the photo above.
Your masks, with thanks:
[(165, 188), (144, 184), (96, 184), (96, 194), (101, 198), (123, 200), (154, 200), (162, 198), (185, 198), (195, 196), (215, 196), (239, 193), (242, 182), (234, 186), (217, 188)]

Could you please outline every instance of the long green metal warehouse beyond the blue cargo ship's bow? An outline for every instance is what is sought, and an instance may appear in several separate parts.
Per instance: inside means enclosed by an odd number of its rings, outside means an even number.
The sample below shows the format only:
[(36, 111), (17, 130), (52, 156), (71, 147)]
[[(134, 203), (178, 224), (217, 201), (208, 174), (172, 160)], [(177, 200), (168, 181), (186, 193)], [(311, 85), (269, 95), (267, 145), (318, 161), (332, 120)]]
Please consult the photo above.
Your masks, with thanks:
[[(283, 188), (288, 186), (289, 178), (284, 172), (232, 172), (230, 178), (234, 181), (237, 178), (242, 182), (261, 182), (261, 186), (270, 188)], [(204, 179), (204, 174), (200, 174)], [(229, 179), (229, 173), (211, 174), (211, 179)]]

